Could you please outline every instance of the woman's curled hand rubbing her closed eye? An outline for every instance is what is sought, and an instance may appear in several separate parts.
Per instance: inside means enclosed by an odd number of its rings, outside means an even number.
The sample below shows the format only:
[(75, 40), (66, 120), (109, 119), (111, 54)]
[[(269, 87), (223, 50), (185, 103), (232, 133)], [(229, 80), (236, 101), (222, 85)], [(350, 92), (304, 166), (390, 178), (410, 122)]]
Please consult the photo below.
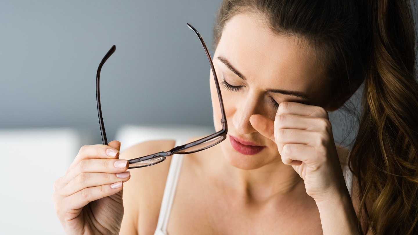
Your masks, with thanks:
[(281, 160), (305, 181), (317, 202), (347, 192), (328, 112), (322, 107), (282, 102), (275, 120), (252, 115), (251, 125), (277, 144)]

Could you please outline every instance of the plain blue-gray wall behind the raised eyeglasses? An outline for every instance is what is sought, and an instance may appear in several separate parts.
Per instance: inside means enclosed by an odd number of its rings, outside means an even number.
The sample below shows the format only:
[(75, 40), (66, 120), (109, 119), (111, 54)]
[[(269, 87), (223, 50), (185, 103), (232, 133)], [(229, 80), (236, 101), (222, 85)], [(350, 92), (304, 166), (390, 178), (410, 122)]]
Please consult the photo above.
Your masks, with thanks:
[(109, 139), (125, 123), (212, 125), (209, 63), (186, 23), (210, 46), (219, 3), (2, 0), (0, 128), (74, 127), (100, 141), (95, 77), (113, 44), (101, 77)]

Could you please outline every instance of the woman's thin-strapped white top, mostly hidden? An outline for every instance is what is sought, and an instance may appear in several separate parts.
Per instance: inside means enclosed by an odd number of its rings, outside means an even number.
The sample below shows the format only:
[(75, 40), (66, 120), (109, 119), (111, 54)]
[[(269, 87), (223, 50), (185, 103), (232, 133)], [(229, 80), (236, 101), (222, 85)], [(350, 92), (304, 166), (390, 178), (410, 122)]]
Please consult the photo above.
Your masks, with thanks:
[[(177, 144), (177, 143), (176, 143)], [(177, 145), (176, 145), (177, 146)], [(170, 169), (168, 170), (166, 188), (164, 189), (163, 201), (161, 202), (160, 215), (158, 217), (157, 229), (154, 235), (168, 235), (167, 225), (171, 213), (171, 207), (176, 193), (178, 176), (180, 175), (181, 163), (184, 155), (175, 154), (172, 156)], [(343, 168), (345, 184), (351, 197), (353, 174), (348, 165)]]

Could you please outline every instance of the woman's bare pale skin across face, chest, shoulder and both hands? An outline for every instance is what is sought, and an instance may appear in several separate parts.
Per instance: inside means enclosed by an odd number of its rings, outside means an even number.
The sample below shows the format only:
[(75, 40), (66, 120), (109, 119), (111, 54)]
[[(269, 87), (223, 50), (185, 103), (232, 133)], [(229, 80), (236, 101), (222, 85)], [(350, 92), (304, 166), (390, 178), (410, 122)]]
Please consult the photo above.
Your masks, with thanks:
[[(335, 107), (327, 103), (329, 79), (315, 52), (295, 36), (273, 33), (260, 16), (241, 13), (225, 25), (213, 58), (228, 138), (184, 157), (168, 232), (358, 234), (342, 175), (347, 151), (334, 143), (326, 110)], [(265, 148), (242, 154), (231, 135)], [(173, 140), (141, 143), (121, 158), (173, 146)], [(119, 148), (117, 141), (85, 146), (56, 181), (53, 200), (68, 234), (154, 233), (171, 158), (130, 176), (121, 174), (126, 161), (115, 166)]]

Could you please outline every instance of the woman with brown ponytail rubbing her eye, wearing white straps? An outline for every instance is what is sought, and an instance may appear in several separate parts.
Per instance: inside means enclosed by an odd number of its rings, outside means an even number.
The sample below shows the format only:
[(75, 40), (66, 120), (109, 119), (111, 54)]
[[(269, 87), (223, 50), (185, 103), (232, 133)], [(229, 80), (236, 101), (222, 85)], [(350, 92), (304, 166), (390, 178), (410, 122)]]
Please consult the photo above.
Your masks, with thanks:
[[(224, 0), (214, 45), (227, 140), (130, 173), (119, 142), (84, 146), (54, 185), (68, 234), (418, 233), (408, 0)], [(362, 83), (359, 133), (347, 151), (335, 145), (326, 111)], [(175, 144), (150, 141), (121, 156)], [(172, 161), (181, 167), (168, 182)], [(348, 169), (354, 176), (344, 179)], [(175, 192), (167, 208), (166, 181)]]

